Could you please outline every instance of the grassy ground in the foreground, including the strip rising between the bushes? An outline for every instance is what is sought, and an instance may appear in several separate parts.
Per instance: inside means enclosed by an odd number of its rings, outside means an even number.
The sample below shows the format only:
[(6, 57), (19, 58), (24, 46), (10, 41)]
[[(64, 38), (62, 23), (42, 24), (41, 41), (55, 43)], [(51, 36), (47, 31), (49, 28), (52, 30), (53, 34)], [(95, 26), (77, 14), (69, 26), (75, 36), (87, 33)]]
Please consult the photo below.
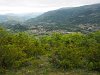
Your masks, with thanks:
[[(41, 63), (42, 66), (40, 66)], [(81, 69), (68, 70), (66, 72), (57, 70), (47, 62), (47, 58), (41, 57), (41, 59), (35, 60), (31, 66), (23, 67), (19, 70), (8, 70), (5, 74), (0, 75), (100, 75), (100, 72)]]

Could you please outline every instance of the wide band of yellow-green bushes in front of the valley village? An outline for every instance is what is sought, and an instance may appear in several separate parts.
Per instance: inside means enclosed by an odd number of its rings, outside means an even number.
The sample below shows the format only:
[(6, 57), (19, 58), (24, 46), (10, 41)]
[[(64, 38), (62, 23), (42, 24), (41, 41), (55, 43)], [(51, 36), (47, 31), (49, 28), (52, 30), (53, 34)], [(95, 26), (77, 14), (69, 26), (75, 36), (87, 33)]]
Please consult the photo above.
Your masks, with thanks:
[(0, 72), (32, 66), (42, 56), (56, 69), (100, 71), (100, 31), (38, 37), (0, 28)]

